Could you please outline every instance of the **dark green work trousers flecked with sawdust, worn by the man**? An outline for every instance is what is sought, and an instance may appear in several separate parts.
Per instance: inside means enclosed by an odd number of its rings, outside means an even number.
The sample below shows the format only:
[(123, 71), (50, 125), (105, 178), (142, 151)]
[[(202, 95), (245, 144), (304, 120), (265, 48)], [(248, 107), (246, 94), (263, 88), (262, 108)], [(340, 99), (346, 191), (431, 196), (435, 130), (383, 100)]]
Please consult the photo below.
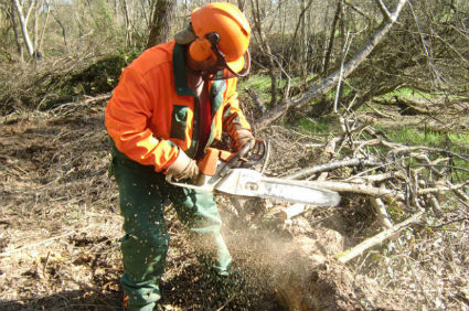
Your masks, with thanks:
[[(113, 147), (113, 173), (119, 186), (125, 236), (121, 240), (124, 276), (120, 283), (129, 296), (129, 310), (152, 310), (160, 299), (159, 282), (164, 272), (170, 237), (163, 206), (169, 199), (190, 237), (203, 243), (198, 258), (211, 271), (224, 276), (232, 257), (220, 233), (222, 221), (209, 192), (173, 186), (153, 167), (140, 165)], [(212, 255), (212, 256), (207, 256)], [(211, 267), (206, 267), (211, 266)]]

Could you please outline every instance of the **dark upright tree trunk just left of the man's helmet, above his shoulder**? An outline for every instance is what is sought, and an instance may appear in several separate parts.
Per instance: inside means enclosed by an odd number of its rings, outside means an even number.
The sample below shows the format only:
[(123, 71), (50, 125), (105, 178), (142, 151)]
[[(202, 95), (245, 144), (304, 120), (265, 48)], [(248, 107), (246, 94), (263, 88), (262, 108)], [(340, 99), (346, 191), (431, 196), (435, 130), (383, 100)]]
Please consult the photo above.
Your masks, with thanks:
[(151, 18), (150, 34), (147, 41), (147, 49), (159, 43), (169, 41), (168, 34), (172, 21), (174, 1), (157, 0), (154, 1), (153, 17)]

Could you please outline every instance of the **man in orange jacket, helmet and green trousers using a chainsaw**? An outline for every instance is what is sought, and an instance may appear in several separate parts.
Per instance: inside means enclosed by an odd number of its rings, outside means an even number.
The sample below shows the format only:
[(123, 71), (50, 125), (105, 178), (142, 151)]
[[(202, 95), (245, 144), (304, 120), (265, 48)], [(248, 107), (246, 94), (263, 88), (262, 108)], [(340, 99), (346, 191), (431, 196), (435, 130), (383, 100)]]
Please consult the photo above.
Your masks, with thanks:
[(228, 275), (232, 257), (213, 194), (168, 184), (166, 174), (195, 178), (196, 160), (222, 140), (223, 131), (234, 150), (254, 141), (236, 93), (236, 77), (251, 66), (249, 36), (249, 24), (235, 6), (195, 9), (174, 41), (147, 50), (122, 72), (109, 100), (106, 127), (125, 230), (120, 282), (129, 310), (152, 310), (160, 299), (169, 245), (167, 199), (191, 236), (214, 250), (211, 271)]

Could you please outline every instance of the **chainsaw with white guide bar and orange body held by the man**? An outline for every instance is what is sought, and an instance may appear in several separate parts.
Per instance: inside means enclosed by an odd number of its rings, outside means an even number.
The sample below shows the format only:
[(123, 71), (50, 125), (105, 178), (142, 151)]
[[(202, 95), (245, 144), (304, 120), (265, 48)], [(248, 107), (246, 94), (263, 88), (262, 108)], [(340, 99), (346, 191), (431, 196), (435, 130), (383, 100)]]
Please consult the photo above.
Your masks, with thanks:
[[(308, 181), (267, 178), (253, 169), (268, 159), (268, 146), (256, 140), (254, 147), (246, 143), (238, 152), (207, 148), (198, 161), (200, 174), (190, 182), (178, 182), (167, 175), (168, 183), (193, 190), (217, 192), (243, 197), (260, 197), (303, 203), (316, 206), (335, 206), (337, 192), (312, 186)], [(262, 170), (264, 171), (264, 169)]]

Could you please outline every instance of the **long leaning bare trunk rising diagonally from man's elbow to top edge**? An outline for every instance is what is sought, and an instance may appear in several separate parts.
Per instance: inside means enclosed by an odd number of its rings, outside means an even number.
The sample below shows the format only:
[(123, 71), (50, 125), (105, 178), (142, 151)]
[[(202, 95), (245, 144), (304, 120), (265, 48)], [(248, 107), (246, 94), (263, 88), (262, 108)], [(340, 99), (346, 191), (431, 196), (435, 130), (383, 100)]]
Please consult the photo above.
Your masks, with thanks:
[[(391, 19), (384, 19), (382, 24), (372, 34), (372, 37), (365, 45), (343, 66), (342, 77), (348, 77), (373, 51), (376, 44), (386, 35), (395, 21), (397, 20), (402, 9), (407, 0), (398, 0), (394, 12), (388, 12)], [(341, 68), (337, 69), (319, 84), (315, 85), (296, 99), (285, 98), (280, 105), (273, 107), (265, 116), (263, 116), (254, 126), (255, 130), (260, 130), (284, 116), (287, 111), (299, 109), (320, 97), (322, 94), (332, 89), (339, 82)]]

